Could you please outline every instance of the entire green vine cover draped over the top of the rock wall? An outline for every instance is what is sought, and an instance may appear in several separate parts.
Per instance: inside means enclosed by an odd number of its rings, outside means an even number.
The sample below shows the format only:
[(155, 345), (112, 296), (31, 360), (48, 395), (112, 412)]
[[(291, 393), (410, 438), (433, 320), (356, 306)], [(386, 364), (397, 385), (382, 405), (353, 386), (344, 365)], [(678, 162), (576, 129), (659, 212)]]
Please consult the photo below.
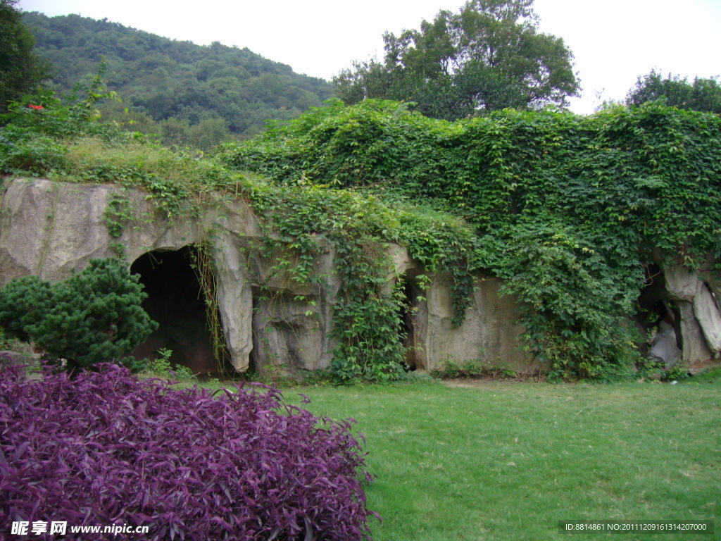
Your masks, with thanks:
[[(324, 279), (313, 265), (329, 242), (342, 284), (332, 373), (342, 382), (402, 374), (389, 242), (451, 273), (456, 325), (477, 273), (504, 278), (520, 300), (524, 347), (554, 377), (601, 379), (643, 364), (629, 317), (647, 265), (701, 268), (721, 255), (718, 115), (650, 102), (591, 117), (504, 110), (448, 122), (398, 102), (337, 101), (199, 157), (95, 123), (89, 105), (107, 94), (98, 84), (74, 105), (17, 105), (0, 128), (2, 169), (142, 187), (170, 217), (200, 211), (211, 191), (246, 198), (277, 271), (302, 283)], [(68, 132), (74, 110), (85, 120)], [(116, 199), (106, 219), (118, 234), (132, 216)]]

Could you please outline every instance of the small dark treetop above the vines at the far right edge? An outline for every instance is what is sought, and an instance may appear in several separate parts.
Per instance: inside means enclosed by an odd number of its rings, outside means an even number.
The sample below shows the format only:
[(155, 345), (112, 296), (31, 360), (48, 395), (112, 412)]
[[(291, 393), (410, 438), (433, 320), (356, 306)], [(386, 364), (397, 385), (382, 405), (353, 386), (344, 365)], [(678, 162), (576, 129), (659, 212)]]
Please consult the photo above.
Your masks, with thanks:
[(721, 85), (716, 78), (696, 77), (693, 83), (678, 75), (665, 79), (658, 71), (637, 79), (629, 90), (627, 105), (641, 105), (645, 102), (661, 101), (670, 107), (721, 114)]

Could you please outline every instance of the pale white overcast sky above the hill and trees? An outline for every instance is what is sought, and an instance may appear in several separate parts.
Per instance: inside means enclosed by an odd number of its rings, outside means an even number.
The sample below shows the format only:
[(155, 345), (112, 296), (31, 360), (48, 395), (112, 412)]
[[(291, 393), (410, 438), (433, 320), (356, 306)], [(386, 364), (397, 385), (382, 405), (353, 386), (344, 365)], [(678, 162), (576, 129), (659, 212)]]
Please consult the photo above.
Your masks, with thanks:
[[(247, 47), (294, 71), (331, 79), (353, 60), (383, 56), (398, 34), (456, 12), (464, 0), (20, 0), (52, 17), (80, 14), (198, 45)], [(651, 69), (693, 79), (721, 75), (721, 0), (536, 0), (541, 32), (575, 56), (583, 96), (576, 113), (622, 100)], [(599, 98), (600, 96), (600, 98)]]

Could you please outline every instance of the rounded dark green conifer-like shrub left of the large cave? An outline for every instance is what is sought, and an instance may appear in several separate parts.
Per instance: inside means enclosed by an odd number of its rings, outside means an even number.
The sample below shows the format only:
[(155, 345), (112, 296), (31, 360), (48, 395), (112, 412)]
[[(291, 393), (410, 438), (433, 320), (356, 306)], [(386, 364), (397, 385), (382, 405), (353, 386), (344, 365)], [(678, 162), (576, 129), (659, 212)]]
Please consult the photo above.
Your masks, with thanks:
[(141, 369), (127, 356), (157, 327), (141, 307), (138, 276), (121, 260), (90, 260), (87, 268), (50, 283), (25, 276), (0, 289), (0, 326), (31, 340), (68, 370), (116, 361)]

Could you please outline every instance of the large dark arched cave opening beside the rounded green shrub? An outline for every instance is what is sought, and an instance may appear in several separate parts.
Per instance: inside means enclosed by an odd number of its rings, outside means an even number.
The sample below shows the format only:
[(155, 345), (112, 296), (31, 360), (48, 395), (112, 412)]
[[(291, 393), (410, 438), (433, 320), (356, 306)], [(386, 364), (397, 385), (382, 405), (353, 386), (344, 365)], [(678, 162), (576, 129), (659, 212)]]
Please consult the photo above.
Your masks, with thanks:
[[(208, 330), (205, 296), (193, 270), (194, 247), (180, 250), (154, 250), (141, 255), (131, 265), (140, 275), (147, 299), (143, 309), (158, 328), (133, 352), (136, 359), (158, 359), (159, 350), (172, 351), (173, 364), (187, 366), (198, 377), (218, 377), (227, 372), (218, 366), (213, 353), (213, 337)], [(225, 359), (224, 363), (228, 363)]]

